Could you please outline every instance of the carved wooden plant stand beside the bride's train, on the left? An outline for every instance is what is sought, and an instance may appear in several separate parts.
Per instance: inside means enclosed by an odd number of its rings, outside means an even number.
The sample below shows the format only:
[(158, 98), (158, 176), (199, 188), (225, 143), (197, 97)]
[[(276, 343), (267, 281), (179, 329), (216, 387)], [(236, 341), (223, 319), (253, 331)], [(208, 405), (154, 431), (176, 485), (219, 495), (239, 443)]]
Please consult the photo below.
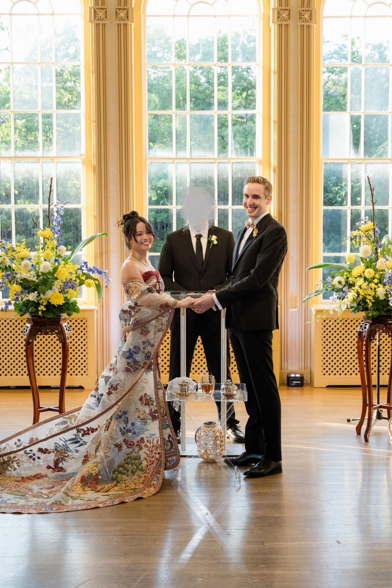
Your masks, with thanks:
[[(25, 350), (29, 382), (33, 399), (33, 425), (39, 421), (39, 413), (52, 410), (59, 414), (65, 412), (64, 394), (68, 369), (68, 332), (69, 327), (65, 318), (56, 316), (52, 319), (44, 317), (31, 317), (27, 319), (25, 327)], [(61, 343), (61, 375), (58, 395), (58, 406), (41, 406), (39, 403), (38, 385), (36, 383), (34, 365), (34, 341), (37, 335), (55, 334)]]

